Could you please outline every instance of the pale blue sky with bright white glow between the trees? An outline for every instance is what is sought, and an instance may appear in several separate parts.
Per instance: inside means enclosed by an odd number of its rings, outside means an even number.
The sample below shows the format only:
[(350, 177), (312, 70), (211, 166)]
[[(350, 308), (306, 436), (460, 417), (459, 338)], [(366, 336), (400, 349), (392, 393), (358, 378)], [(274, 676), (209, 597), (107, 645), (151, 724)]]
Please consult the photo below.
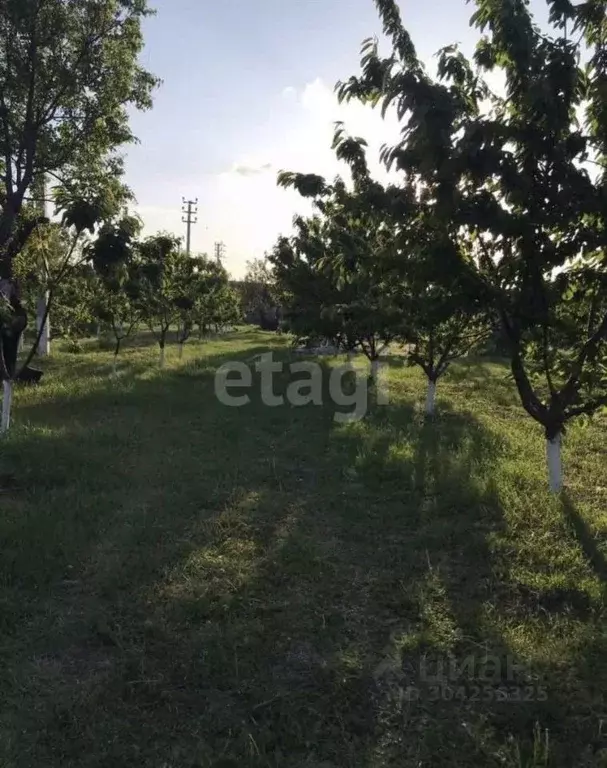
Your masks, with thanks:
[[(398, 135), (394, 120), (339, 105), (335, 83), (359, 72), (360, 45), (381, 36), (373, 0), (151, 0), (142, 64), (162, 79), (154, 108), (134, 113), (139, 143), (126, 181), (146, 234), (185, 236), (182, 199), (198, 199), (192, 251), (225, 243), (235, 278), (289, 234), (308, 203), (276, 185), (280, 170), (333, 178), (334, 123), (369, 142), (369, 158)], [(535, 0), (532, 5), (544, 5)], [(470, 52), (465, 0), (401, 0), (405, 26), (432, 65), (443, 45)], [(544, 5), (545, 7), (545, 5)]]

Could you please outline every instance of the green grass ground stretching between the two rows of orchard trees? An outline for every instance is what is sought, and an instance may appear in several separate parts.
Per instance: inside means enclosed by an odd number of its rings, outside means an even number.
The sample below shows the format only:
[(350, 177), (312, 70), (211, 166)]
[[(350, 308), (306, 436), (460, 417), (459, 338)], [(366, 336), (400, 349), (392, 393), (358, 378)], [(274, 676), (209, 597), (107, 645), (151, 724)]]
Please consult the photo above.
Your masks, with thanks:
[(94, 346), (0, 446), (2, 768), (607, 765), (604, 418), (556, 500), (502, 365), (338, 424), (215, 399), (284, 337)]

